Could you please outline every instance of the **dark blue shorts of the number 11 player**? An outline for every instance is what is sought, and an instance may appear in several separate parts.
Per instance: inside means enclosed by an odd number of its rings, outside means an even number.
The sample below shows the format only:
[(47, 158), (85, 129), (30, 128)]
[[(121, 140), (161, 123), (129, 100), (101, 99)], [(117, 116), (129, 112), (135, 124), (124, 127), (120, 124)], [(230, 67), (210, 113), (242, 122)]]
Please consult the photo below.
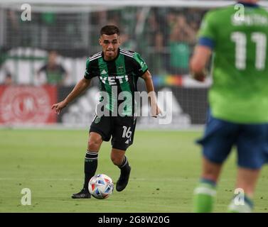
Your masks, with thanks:
[(240, 167), (259, 169), (268, 162), (268, 123), (231, 123), (209, 115), (205, 135), (197, 143), (203, 145), (203, 155), (215, 163), (223, 163), (237, 147)]

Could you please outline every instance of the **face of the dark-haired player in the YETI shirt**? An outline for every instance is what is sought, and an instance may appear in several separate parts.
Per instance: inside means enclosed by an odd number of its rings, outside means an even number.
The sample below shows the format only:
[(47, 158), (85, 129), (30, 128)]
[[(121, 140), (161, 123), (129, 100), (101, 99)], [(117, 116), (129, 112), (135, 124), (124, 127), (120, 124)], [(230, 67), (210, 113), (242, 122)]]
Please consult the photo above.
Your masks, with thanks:
[(117, 57), (117, 52), (120, 44), (119, 35), (105, 35), (100, 36), (100, 45), (104, 53), (104, 60), (113, 60)]

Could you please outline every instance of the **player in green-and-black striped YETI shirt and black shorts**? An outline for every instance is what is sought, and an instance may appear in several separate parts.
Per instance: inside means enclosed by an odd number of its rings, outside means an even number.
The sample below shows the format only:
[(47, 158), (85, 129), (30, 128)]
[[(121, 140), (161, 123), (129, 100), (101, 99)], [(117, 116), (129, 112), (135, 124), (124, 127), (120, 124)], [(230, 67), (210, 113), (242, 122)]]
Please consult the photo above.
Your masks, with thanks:
[[(134, 92), (137, 91), (136, 83), (139, 77), (144, 79), (147, 92), (154, 94), (151, 74), (139, 53), (119, 48), (119, 28), (104, 26), (100, 31), (99, 42), (102, 52), (87, 58), (84, 78), (75, 85), (73, 91), (63, 101), (52, 106), (55, 113), (60, 114), (61, 109), (90, 86), (93, 77), (100, 79), (100, 89), (102, 92), (106, 92), (109, 100), (103, 106), (109, 116), (96, 114), (90, 126), (85, 154), (85, 182), (82, 190), (73, 194), (73, 199), (89, 199), (91, 197), (88, 182), (97, 170), (97, 157), (102, 141), (109, 141), (111, 137), (111, 160), (120, 169), (120, 176), (116, 184), (117, 192), (121, 192), (127, 187), (131, 167), (125, 153), (129, 145), (132, 145), (134, 138), (136, 126)], [(114, 94), (114, 91), (117, 94)], [(119, 105), (125, 101), (125, 99), (116, 100), (121, 92), (132, 96), (132, 99), (129, 99), (130, 101), (127, 101), (124, 108), (119, 110)], [(151, 116), (156, 117), (161, 113), (156, 104), (156, 96), (149, 95), (149, 97)]]

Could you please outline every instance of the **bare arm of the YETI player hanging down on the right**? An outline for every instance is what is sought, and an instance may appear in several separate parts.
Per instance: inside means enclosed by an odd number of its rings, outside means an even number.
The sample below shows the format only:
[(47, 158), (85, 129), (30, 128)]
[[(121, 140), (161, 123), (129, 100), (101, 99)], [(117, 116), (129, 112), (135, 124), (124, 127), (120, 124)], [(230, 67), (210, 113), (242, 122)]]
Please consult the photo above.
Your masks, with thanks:
[(146, 72), (142, 74), (141, 78), (144, 79), (146, 90), (149, 95), (151, 104), (151, 116), (157, 117), (159, 114), (161, 114), (161, 109), (157, 105), (156, 92), (154, 92), (154, 83), (149, 70), (146, 70)]

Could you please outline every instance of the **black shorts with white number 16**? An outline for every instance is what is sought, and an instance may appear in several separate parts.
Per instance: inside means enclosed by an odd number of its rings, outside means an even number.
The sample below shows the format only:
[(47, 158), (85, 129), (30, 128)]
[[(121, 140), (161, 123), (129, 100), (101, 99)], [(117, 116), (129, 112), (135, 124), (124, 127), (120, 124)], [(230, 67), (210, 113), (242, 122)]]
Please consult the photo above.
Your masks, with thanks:
[(90, 132), (100, 134), (104, 141), (109, 141), (112, 136), (112, 148), (127, 150), (133, 143), (135, 127), (134, 116), (95, 116)]

